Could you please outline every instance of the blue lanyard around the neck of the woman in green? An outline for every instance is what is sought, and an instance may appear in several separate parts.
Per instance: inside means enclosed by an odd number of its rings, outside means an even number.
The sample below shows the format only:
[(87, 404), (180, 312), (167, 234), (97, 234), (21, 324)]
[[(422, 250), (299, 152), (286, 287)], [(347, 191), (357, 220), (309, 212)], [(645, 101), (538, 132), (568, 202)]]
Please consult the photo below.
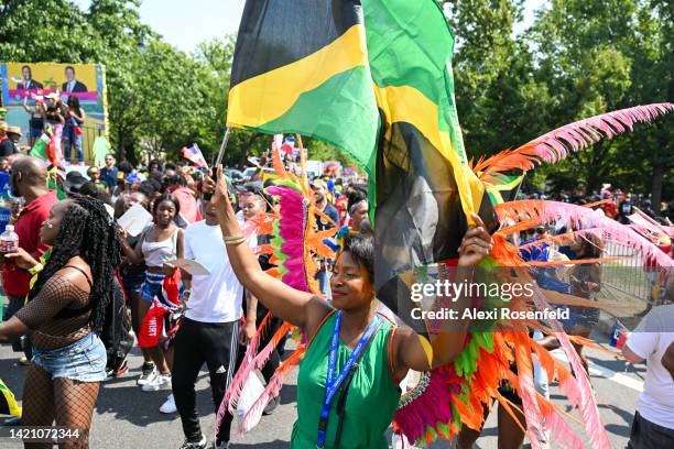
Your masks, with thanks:
[(339, 391), (341, 383), (351, 371), (356, 360), (360, 358), (360, 354), (365, 350), (370, 337), (378, 328), (379, 317), (374, 316), (374, 319), (370, 322), (366, 331), (363, 332), (360, 340), (354, 348), (354, 351), (347, 359), (347, 362), (343, 366), (341, 371), (335, 379), (335, 365), (337, 364), (337, 347), (339, 344), (339, 328), (341, 327), (341, 311), (337, 313), (335, 319), (335, 327), (333, 328), (333, 339), (330, 341), (330, 352), (328, 354), (328, 370), (325, 379), (325, 398), (323, 399), (323, 409), (320, 410), (320, 419), (318, 421), (318, 438), (316, 440), (316, 447), (323, 448), (325, 445), (325, 432), (327, 430), (327, 420), (330, 414), (330, 403), (335, 397), (335, 394)]

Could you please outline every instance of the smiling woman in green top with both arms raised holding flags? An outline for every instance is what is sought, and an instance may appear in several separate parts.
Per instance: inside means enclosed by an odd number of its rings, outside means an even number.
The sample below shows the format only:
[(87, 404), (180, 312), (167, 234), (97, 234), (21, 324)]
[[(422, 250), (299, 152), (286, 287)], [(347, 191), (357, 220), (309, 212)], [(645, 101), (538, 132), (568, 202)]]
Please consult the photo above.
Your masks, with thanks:
[[(224, 179), (220, 168), (218, 182), (207, 179), (205, 189), (215, 190), (211, 202), (237, 277), (272, 314), (309, 338), (300, 363), (291, 447), (388, 448), (384, 432), (400, 399), (399, 382), (409, 370), (450, 363), (463, 349), (468, 322), (428, 342), (378, 314), (371, 234), (345, 240), (330, 278), (331, 303), (265, 274), (241, 234)], [(491, 249), (482, 221), (475, 215), (472, 219), (477, 226), (464, 236), (459, 272), (470, 273)], [(455, 306), (465, 307), (465, 299)]]

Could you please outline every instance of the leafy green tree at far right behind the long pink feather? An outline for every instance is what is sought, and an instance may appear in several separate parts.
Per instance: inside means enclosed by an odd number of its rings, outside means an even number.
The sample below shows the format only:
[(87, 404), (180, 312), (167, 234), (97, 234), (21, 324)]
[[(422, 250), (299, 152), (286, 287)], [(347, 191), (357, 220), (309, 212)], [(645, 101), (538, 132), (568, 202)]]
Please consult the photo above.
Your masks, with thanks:
[[(552, 1), (529, 34), (537, 48), (536, 78), (547, 85), (553, 98), (551, 128), (609, 110), (671, 100), (667, 14), (672, 19), (666, 1)], [(543, 171), (557, 180), (580, 178), (588, 190), (597, 190), (601, 182), (650, 189), (656, 202), (674, 166), (671, 120), (639, 127), (632, 135), (604, 141)]]

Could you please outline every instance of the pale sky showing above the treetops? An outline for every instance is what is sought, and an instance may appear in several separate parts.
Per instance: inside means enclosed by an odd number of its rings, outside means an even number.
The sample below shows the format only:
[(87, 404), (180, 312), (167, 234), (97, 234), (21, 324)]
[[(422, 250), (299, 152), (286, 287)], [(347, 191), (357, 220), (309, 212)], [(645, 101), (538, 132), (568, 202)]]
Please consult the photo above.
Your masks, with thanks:
[[(89, 0), (75, 0), (84, 9)], [(199, 42), (236, 34), (246, 0), (143, 0), (140, 15), (143, 23), (161, 34), (171, 45), (192, 52)], [(515, 28), (520, 33), (533, 23), (534, 11), (546, 0), (525, 0), (524, 21)]]

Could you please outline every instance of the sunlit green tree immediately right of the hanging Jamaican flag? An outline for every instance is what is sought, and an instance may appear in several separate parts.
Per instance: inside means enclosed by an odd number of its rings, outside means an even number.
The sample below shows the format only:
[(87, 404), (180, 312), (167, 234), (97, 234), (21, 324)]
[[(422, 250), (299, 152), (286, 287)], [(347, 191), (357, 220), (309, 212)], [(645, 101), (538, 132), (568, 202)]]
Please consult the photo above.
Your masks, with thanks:
[(455, 94), (469, 154), (493, 154), (534, 138), (545, 128), (550, 96), (534, 78), (531, 51), (513, 37), (522, 1), (443, 3), (455, 35)]

